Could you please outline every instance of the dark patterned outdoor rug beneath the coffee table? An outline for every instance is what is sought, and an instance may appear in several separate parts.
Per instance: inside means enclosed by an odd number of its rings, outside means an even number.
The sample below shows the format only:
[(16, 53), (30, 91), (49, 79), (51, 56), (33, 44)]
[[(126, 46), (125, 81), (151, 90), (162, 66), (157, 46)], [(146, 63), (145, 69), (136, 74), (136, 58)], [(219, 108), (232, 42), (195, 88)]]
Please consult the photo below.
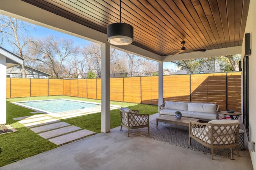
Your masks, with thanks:
[[(189, 145), (189, 127), (175, 125), (171, 123), (158, 122), (158, 129), (156, 129), (156, 119), (150, 121), (149, 124), (150, 134), (148, 135), (148, 128), (130, 129), (130, 133), (154, 139), (157, 141), (166, 142), (172, 145), (185, 147), (188, 149), (196, 150), (206, 154), (212, 154), (211, 149), (191, 139)], [(233, 151), (233, 154), (236, 154)], [(230, 149), (214, 149), (214, 155), (231, 158)]]

